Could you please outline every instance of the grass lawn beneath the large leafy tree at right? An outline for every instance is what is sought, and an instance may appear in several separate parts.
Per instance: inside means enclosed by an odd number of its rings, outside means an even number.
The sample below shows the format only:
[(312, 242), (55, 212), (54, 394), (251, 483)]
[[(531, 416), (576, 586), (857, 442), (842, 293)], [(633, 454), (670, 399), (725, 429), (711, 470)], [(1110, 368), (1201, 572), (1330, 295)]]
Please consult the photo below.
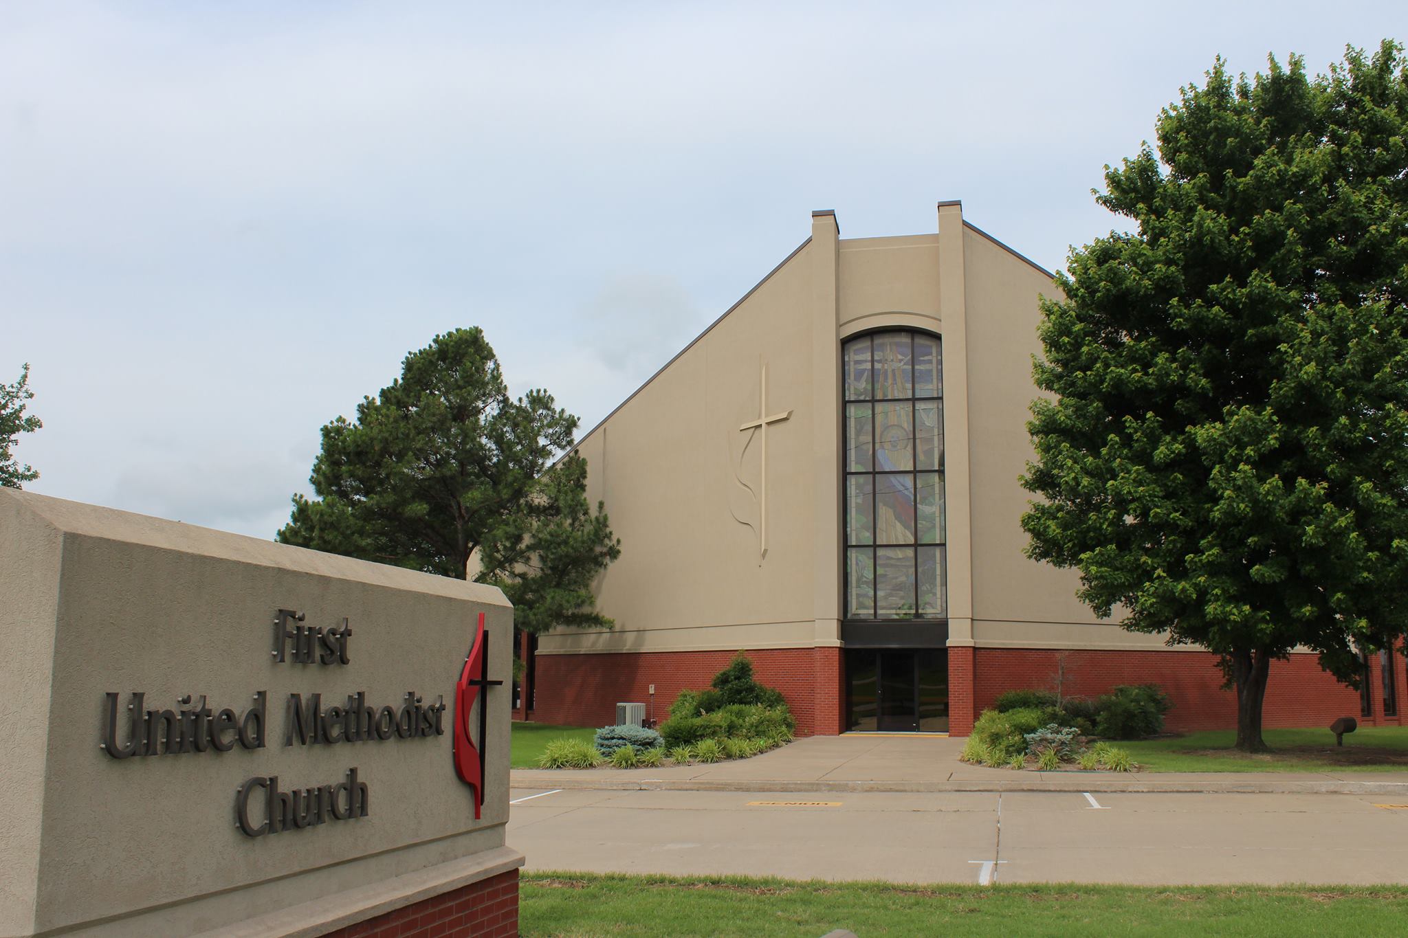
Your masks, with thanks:
[(1236, 733), (1209, 730), (1164, 740), (1117, 743), (1146, 772), (1391, 772), (1408, 771), (1408, 727), (1366, 726), (1345, 735), (1343, 748), (1325, 728), (1264, 730), (1274, 750), (1233, 751)]

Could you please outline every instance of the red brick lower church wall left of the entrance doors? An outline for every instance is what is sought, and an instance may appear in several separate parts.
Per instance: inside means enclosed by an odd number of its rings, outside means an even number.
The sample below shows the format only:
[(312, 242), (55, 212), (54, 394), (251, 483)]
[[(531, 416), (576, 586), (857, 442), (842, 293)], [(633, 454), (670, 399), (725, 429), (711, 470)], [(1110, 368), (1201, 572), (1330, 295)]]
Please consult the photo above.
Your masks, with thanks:
[[(841, 731), (845, 695), (841, 648), (746, 650), (753, 676), (787, 698), (797, 735)], [(645, 651), (586, 655), (538, 655), (535, 723), (611, 726), (617, 703), (645, 703), (655, 685), (655, 720), (665, 723), (680, 690), (701, 690), (728, 667), (734, 651)]]

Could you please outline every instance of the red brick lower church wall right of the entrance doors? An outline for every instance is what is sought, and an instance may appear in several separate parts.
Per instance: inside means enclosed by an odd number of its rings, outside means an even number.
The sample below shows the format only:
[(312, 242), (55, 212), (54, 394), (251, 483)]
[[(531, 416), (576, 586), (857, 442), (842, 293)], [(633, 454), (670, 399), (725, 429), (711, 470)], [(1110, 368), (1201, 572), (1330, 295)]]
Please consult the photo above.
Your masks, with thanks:
[[(949, 667), (953, 668), (953, 653)], [(1222, 730), (1236, 726), (1236, 693), (1222, 689), (1222, 671), (1217, 657), (1207, 651), (1055, 651), (1050, 648), (976, 648), (974, 651), (974, 709), (993, 706), (1004, 690), (1035, 688), (1056, 689), (1056, 675), (1064, 658), (1063, 693), (1098, 696), (1119, 683), (1157, 683), (1170, 698), (1167, 727), (1176, 733), (1190, 730)], [(1394, 655), (1397, 675), (1398, 713), (1404, 712), (1404, 657)], [(960, 692), (956, 675), (950, 672), (949, 693)], [(1401, 717), (1383, 716), (1383, 683), (1377, 655), (1371, 660), (1374, 716), (1359, 716), (1359, 692), (1339, 683), (1321, 671), (1314, 654), (1293, 654), (1288, 661), (1273, 661), (1266, 685), (1263, 726), (1329, 726), (1336, 717), (1352, 716), (1366, 724), (1394, 724)], [(955, 735), (973, 728), (952, 721)]]

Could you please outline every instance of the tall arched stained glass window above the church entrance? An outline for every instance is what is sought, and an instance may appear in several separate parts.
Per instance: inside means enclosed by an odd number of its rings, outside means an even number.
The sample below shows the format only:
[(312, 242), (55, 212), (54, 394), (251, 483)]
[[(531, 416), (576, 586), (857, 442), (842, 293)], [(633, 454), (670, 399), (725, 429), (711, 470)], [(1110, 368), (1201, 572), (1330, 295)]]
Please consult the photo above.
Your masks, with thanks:
[(845, 398), (846, 619), (945, 619), (938, 338), (852, 339)]

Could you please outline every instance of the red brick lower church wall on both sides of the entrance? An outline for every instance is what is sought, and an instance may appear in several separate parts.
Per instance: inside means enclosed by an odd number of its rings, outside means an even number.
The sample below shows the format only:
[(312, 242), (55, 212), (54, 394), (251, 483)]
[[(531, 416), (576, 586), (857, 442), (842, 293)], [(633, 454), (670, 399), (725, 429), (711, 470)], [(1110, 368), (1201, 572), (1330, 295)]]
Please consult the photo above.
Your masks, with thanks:
[[(797, 735), (835, 735), (845, 730), (846, 689), (841, 648), (746, 650), (753, 674), (787, 698)], [(732, 651), (646, 651), (536, 658), (536, 723), (608, 726), (617, 703), (645, 703), (656, 724), (684, 689), (703, 689), (722, 671)], [(1321, 671), (1314, 654), (1273, 661), (1263, 726), (1329, 726), (1352, 716), (1364, 726), (1400, 726), (1408, 693), (1401, 654), (1391, 657), (1393, 707), (1378, 655), (1370, 657), (1373, 713), (1360, 716), (1359, 692)], [(1055, 648), (949, 648), (949, 733), (967, 735), (984, 707), (1005, 690), (1056, 690), (1095, 698), (1121, 683), (1157, 683), (1173, 699), (1167, 727), (1174, 733), (1236, 726), (1236, 693), (1222, 688), (1217, 657), (1205, 651), (1095, 651)], [(655, 685), (655, 696), (649, 693)], [(521, 713), (515, 719), (521, 719)]]

